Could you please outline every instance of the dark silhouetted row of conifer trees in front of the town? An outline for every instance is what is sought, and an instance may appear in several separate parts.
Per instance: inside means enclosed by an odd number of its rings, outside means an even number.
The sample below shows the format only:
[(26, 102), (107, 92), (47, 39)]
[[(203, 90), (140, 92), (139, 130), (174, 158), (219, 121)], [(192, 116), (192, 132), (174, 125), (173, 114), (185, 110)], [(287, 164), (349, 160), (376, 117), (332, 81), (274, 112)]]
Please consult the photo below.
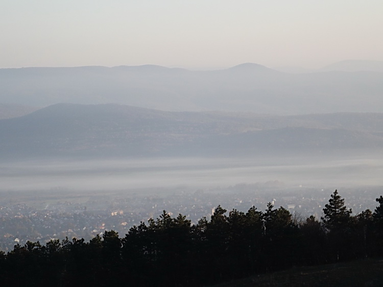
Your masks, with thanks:
[(23, 286), (199, 286), (292, 266), (383, 256), (383, 197), (356, 216), (338, 191), (323, 217), (293, 216), (282, 206), (246, 213), (222, 206), (192, 224), (165, 211), (120, 238), (27, 242), (0, 252), (0, 284)]

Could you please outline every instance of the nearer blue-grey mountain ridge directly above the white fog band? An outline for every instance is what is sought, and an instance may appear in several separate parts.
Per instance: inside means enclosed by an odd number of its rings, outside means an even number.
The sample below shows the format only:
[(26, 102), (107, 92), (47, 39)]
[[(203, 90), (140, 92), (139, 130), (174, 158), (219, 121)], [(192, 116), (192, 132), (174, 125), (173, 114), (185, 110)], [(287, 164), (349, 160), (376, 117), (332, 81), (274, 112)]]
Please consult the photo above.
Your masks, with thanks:
[(57, 104), (0, 120), (0, 157), (229, 156), (383, 147), (383, 114), (270, 116)]

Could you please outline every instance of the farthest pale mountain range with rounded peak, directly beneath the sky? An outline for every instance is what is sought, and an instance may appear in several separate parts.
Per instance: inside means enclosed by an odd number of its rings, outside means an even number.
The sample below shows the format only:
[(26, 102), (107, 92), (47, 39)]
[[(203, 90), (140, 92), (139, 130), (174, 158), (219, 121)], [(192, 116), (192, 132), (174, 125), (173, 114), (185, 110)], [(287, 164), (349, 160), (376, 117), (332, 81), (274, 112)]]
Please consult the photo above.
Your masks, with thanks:
[[(383, 112), (381, 63), (346, 61), (296, 74), (252, 63), (213, 71), (154, 65), (0, 69), (0, 102), (33, 107), (118, 103), (279, 115)], [(342, 71), (357, 67), (362, 70)]]

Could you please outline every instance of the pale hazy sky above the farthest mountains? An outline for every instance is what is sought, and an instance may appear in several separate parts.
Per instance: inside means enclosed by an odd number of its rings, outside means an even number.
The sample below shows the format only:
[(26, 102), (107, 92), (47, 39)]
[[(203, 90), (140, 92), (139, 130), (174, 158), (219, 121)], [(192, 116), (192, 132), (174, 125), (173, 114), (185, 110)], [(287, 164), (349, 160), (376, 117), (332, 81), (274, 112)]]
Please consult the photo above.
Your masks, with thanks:
[(0, 67), (383, 61), (382, 0), (2, 0)]

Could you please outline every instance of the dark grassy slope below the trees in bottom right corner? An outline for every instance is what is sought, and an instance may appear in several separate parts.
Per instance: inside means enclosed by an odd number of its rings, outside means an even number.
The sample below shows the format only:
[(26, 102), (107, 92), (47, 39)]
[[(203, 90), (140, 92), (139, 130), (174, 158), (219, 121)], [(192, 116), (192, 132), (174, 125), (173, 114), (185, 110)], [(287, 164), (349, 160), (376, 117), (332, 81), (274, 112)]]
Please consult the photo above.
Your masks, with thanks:
[(383, 286), (383, 258), (295, 267), (214, 286)]

